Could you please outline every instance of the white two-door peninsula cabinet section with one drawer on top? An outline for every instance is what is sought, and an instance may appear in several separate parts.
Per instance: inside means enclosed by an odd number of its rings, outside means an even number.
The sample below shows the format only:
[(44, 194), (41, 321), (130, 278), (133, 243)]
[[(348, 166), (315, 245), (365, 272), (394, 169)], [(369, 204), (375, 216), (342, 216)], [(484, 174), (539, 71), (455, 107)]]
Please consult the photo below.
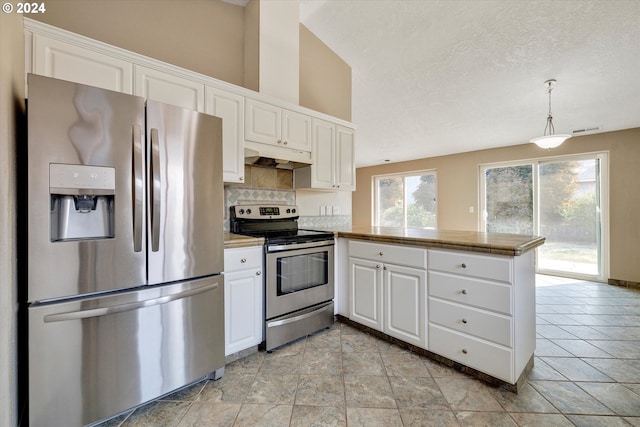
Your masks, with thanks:
[(426, 249), (350, 241), (349, 270), (349, 318), (425, 348)]

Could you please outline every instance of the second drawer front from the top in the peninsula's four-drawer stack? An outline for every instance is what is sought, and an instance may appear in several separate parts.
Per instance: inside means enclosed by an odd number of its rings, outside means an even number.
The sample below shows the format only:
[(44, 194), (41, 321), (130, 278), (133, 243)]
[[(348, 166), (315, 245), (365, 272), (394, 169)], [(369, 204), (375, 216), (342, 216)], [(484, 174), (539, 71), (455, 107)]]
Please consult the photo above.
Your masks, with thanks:
[(429, 296), (513, 315), (512, 287), (471, 277), (429, 271)]

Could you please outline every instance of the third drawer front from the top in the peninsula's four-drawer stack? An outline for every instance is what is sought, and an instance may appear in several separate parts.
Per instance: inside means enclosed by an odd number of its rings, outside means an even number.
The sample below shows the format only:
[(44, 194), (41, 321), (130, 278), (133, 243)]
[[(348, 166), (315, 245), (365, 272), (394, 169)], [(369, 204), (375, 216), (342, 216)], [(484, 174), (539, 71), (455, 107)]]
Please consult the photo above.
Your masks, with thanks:
[(512, 319), (475, 308), (429, 298), (429, 322), (513, 347)]

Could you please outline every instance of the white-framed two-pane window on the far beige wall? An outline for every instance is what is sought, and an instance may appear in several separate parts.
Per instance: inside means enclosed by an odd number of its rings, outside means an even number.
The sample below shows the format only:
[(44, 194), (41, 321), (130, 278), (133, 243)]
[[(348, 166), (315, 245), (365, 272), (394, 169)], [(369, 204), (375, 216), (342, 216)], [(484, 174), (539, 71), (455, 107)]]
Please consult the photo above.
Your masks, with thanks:
[(373, 185), (374, 225), (436, 228), (435, 171), (378, 175)]

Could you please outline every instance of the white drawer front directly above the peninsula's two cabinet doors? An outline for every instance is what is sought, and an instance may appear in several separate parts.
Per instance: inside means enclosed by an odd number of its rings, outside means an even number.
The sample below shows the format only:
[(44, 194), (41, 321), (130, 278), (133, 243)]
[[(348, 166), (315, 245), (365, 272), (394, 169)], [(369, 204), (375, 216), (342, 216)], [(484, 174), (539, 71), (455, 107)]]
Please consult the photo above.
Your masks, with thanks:
[(407, 267), (427, 268), (427, 250), (402, 245), (349, 241), (349, 256)]

